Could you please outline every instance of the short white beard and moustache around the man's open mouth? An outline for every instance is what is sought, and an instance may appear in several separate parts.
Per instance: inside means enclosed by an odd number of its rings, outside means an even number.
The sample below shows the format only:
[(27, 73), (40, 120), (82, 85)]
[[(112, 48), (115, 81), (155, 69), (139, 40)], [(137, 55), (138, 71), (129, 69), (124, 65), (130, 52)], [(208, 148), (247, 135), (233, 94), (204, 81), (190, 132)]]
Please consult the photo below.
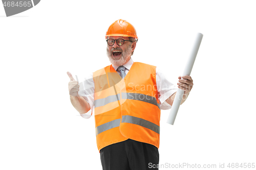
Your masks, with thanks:
[[(113, 50), (120, 50), (122, 52), (121, 54), (121, 58), (120, 59), (115, 59), (112, 57), (112, 51)], [(116, 65), (116, 66), (121, 66), (123, 64), (125, 64), (127, 61), (130, 60), (131, 55), (132, 55), (132, 45), (129, 45), (126, 50), (122, 51), (121, 48), (112, 48), (112, 51), (109, 51), (109, 48), (106, 47), (106, 55), (109, 57), (109, 60), (111, 62), (111, 64)]]

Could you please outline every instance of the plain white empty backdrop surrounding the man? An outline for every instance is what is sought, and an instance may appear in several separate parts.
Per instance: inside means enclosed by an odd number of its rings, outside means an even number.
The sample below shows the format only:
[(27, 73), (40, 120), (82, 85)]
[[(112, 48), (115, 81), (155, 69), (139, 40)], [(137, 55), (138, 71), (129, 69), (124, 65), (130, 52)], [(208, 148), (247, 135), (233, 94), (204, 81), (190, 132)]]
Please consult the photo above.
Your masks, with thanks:
[(174, 83), (204, 34), (174, 126), (161, 112), (160, 164), (256, 163), (254, 1), (43, 0), (0, 15), (0, 169), (102, 169), (94, 117), (71, 105), (66, 72), (110, 65), (104, 36), (117, 19), (136, 28), (133, 60)]

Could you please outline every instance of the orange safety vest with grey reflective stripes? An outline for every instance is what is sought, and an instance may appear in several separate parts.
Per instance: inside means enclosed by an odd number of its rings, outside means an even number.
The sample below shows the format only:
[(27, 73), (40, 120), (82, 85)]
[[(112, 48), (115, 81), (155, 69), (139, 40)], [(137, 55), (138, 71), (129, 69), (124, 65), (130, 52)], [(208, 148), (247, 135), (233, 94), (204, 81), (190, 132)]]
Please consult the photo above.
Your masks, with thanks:
[(129, 138), (159, 148), (156, 67), (134, 62), (122, 79), (110, 65), (95, 71), (93, 80), (98, 150)]

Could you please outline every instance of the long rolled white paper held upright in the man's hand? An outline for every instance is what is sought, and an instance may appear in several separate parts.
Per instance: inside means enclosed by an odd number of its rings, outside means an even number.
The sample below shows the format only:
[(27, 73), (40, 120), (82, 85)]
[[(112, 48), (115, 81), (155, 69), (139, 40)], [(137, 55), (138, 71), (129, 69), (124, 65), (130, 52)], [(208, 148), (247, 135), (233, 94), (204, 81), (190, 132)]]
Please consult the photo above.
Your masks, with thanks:
[[(190, 76), (191, 70), (193, 68), (194, 62), (197, 57), (197, 53), (198, 53), (202, 38), (203, 38), (203, 34), (198, 33), (196, 36), (195, 44), (194, 44), (192, 51), (188, 57), (188, 61), (187, 61), (187, 64), (186, 64), (186, 67), (185, 67), (185, 70), (184, 70), (182, 76)], [(170, 109), (170, 113), (169, 113), (169, 116), (167, 119), (167, 124), (174, 125), (174, 121), (175, 121), (176, 115), (178, 113), (178, 110), (180, 108), (183, 94), (184, 94), (184, 91), (179, 88), (176, 92), (173, 106)]]

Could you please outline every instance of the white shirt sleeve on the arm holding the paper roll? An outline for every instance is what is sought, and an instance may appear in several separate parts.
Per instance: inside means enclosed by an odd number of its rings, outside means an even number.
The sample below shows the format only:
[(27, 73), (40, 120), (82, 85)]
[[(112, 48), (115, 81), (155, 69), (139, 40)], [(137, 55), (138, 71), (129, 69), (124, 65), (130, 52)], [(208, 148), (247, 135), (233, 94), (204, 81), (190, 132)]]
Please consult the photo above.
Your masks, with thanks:
[(168, 81), (158, 67), (156, 67), (156, 82), (160, 109), (167, 110), (172, 108), (172, 106), (169, 105), (165, 100), (177, 91), (178, 86)]

